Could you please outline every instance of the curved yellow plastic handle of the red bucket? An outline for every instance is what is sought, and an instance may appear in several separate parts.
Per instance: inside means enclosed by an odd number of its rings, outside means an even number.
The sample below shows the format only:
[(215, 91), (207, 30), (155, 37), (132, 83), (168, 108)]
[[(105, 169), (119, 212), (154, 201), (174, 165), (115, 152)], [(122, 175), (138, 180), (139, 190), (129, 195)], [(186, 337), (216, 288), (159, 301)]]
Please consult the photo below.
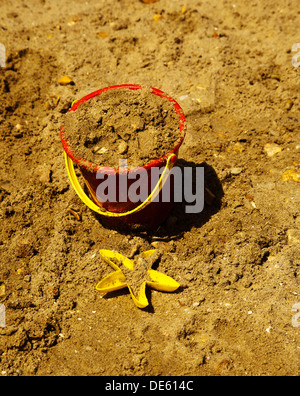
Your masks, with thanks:
[(67, 168), (67, 172), (68, 172), (68, 176), (70, 179), (70, 182), (74, 188), (74, 190), (76, 191), (77, 195), (79, 196), (79, 198), (92, 210), (94, 210), (95, 212), (99, 213), (100, 215), (103, 216), (108, 216), (108, 217), (124, 217), (124, 216), (128, 216), (131, 215), (133, 213), (139, 212), (140, 210), (144, 209), (147, 205), (149, 205), (156, 197), (157, 195), (160, 193), (160, 191), (162, 190), (165, 182), (168, 179), (169, 173), (171, 171), (171, 169), (174, 166), (174, 158), (176, 158), (175, 154), (170, 154), (169, 157), (167, 158), (167, 162), (166, 162), (166, 167), (163, 170), (156, 186), (154, 187), (153, 191), (151, 192), (151, 194), (148, 196), (148, 198), (142, 202), (139, 206), (137, 206), (136, 208), (130, 210), (129, 212), (126, 213), (114, 213), (114, 212), (109, 212), (109, 211), (102, 211), (101, 208), (96, 205), (87, 195), (86, 193), (83, 191), (81, 185), (79, 184), (79, 181), (77, 179), (75, 170), (74, 170), (74, 164), (73, 161), (71, 160), (71, 158), (68, 157), (68, 155), (66, 153), (64, 153), (65, 155), (65, 164), (66, 164), (66, 168)]

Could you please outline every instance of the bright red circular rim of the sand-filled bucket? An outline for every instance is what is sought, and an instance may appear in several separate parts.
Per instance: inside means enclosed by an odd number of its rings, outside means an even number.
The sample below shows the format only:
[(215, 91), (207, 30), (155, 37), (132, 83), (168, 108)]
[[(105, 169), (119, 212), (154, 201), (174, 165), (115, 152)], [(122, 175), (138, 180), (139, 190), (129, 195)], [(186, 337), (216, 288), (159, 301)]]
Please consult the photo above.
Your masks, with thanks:
[[(142, 86), (139, 84), (121, 84), (121, 85), (111, 85), (105, 88), (101, 88), (98, 89), (96, 91), (93, 91), (91, 93), (89, 93), (88, 95), (82, 97), (81, 99), (77, 100), (76, 102), (73, 102), (72, 107), (68, 110), (68, 112), (72, 112), (72, 111), (76, 111), (77, 108), (80, 106), (80, 104), (101, 95), (104, 92), (107, 92), (109, 90), (112, 89), (131, 89), (131, 90), (138, 90), (138, 89), (151, 89), (151, 92), (157, 96), (160, 96), (162, 98), (167, 99), (170, 103), (173, 103), (174, 105), (174, 110), (177, 113), (178, 117), (179, 117), (179, 132), (180, 132), (180, 136), (179, 139), (176, 141), (176, 145), (173, 149), (171, 149), (170, 151), (168, 151), (167, 153), (165, 153), (163, 156), (161, 156), (158, 159), (154, 159), (151, 160), (149, 162), (147, 162), (144, 165), (141, 165), (139, 167), (132, 167), (130, 168), (129, 166), (126, 167), (126, 172), (132, 172), (132, 171), (138, 171), (138, 169), (146, 169), (147, 171), (152, 168), (152, 167), (161, 167), (164, 166), (167, 159), (169, 158), (169, 156), (171, 154), (177, 154), (184, 138), (186, 135), (186, 118), (184, 115), (184, 112), (181, 108), (181, 106), (177, 103), (177, 101), (175, 99), (173, 99), (170, 95), (166, 94), (165, 92), (161, 91), (160, 89), (154, 88), (154, 87), (147, 87), (147, 86)], [(119, 168), (113, 168), (113, 167), (109, 167), (109, 166), (101, 166), (101, 165), (97, 165), (91, 161), (87, 161), (79, 156), (77, 156), (77, 154), (75, 153), (75, 151), (71, 148), (71, 145), (69, 144), (66, 136), (65, 136), (65, 131), (64, 131), (64, 127), (63, 125), (60, 128), (60, 137), (61, 137), (61, 142), (63, 145), (63, 148), (66, 152), (66, 154), (68, 155), (68, 157), (70, 157), (70, 159), (75, 162), (79, 167), (82, 167), (90, 172), (101, 172), (101, 173), (106, 173), (106, 174), (110, 174), (110, 173), (120, 173), (120, 169)]]

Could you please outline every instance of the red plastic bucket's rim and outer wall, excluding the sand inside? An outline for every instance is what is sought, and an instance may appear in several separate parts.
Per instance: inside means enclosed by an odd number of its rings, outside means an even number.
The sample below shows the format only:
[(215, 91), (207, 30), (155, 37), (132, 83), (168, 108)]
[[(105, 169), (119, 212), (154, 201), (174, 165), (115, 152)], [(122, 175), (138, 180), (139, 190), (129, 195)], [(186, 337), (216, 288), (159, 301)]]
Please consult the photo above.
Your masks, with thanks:
[[(76, 101), (69, 111), (76, 111), (81, 103), (86, 102), (91, 98), (94, 98), (95, 96), (101, 95), (103, 92), (112, 89), (138, 90), (138, 89), (146, 89), (146, 88), (142, 87), (141, 85), (127, 85), (127, 84), (106, 87), (98, 91), (92, 92), (89, 95), (83, 97), (82, 99)], [(153, 167), (158, 167), (158, 168), (166, 167), (168, 162), (170, 162), (170, 156), (172, 157), (171, 158), (172, 166), (174, 166), (177, 160), (179, 148), (186, 134), (186, 120), (183, 110), (179, 106), (179, 104), (163, 91), (160, 91), (156, 88), (151, 88), (151, 91), (154, 95), (160, 96), (161, 98), (168, 100), (170, 103), (174, 105), (174, 111), (178, 115), (179, 136), (178, 136), (178, 140), (176, 141), (176, 146), (172, 150), (165, 153), (161, 158), (152, 160), (147, 164), (143, 165), (142, 168), (145, 169), (148, 174), (148, 181), (146, 182), (148, 182), (149, 188), (151, 188), (151, 177), (150, 177), (151, 169)], [(101, 172), (105, 175), (106, 174), (109, 175), (112, 172), (114, 172), (116, 174), (116, 177), (118, 178), (122, 171), (119, 169), (113, 170), (109, 166), (107, 167), (98, 166), (89, 161), (86, 161), (83, 158), (78, 157), (78, 155), (73, 151), (72, 147), (70, 146), (69, 142), (66, 139), (63, 126), (61, 127), (60, 135), (61, 135), (61, 142), (65, 151), (66, 165), (70, 179), (71, 179), (70, 173), (72, 173), (70, 168), (72, 168), (73, 164), (76, 164), (84, 178), (84, 182), (92, 196), (93, 202), (97, 205), (97, 208), (99, 208), (99, 210), (96, 210), (95, 206), (93, 206), (94, 204), (88, 206), (90, 206), (93, 210), (97, 211), (100, 214), (102, 220), (104, 220), (104, 222), (108, 226), (113, 228), (118, 228), (119, 226), (126, 224), (129, 226), (139, 225), (145, 229), (153, 229), (153, 228), (157, 228), (168, 217), (173, 206), (172, 194), (169, 202), (162, 202), (161, 199), (158, 199), (158, 202), (150, 202), (149, 204), (144, 206), (140, 205), (140, 203), (131, 202), (129, 199), (125, 199), (125, 202), (123, 202), (124, 199), (122, 199), (122, 202), (120, 201), (100, 202), (97, 199), (96, 191), (97, 191), (97, 187), (99, 186), (100, 183), (103, 182), (103, 180), (99, 180), (99, 177), (97, 178), (96, 176), (97, 172)], [(138, 168), (132, 168), (132, 169), (128, 168), (127, 172), (136, 173), (138, 172)], [(74, 175), (75, 173), (73, 172), (73, 176)], [(131, 181), (128, 180), (128, 189), (130, 187), (130, 183), (133, 182), (134, 179), (131, 179)], [(72, 184), (74, 186), (74, 183)], [(77, 194), (81, 197), (81, 199), (84, 202), (87, 202), (86, 199), (83, 199), (84, 193), (81, 190), (79, 184), (78, 183), (75, 184), (77, 184), (78, 187), (77, 188), (76, 186), (74, 186)], [(117, 182), (116, 187), (118, 185), (119, 183)], [(78, 189), (81, 190), (81, 192), (79, 192)], [(171, 190), (172, 190), (172, 186), (171, 186)], [(142, 207), (142, 209), (139, 209), (140, 207)], [(138, 210), (135, 211), (136, 209)]]

